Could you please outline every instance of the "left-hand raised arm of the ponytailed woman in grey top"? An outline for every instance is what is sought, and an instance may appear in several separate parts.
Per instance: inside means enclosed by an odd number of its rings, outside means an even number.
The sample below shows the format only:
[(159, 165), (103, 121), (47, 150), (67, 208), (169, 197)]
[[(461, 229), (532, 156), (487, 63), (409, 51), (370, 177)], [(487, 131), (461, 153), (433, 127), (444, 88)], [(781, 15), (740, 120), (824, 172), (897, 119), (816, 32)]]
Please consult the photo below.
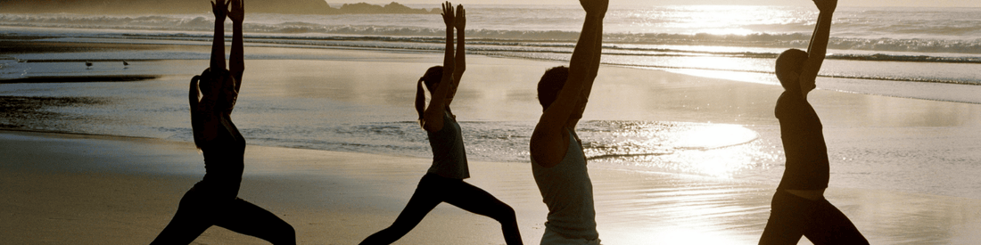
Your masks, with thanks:
[[(442, 129), (442, 116), (446, 113), (446, 94), (453, 82), (453, 5), (442, 4), (442, 21), (446, 24), (446, 48), (442, 59), (442, 78), (433, 93), (429, 108), (423, 113), (423, 128), (427, 131)], [(433, 89), (432, 87), (430, 89)]]

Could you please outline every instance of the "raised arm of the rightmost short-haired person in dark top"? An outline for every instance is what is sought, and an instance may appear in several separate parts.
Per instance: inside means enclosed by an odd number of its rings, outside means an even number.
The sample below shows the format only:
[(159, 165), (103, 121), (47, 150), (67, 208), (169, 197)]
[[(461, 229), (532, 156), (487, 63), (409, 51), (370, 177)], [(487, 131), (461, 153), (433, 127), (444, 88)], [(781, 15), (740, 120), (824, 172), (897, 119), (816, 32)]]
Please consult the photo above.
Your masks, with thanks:
[[(824, 63), (824, 56), (828, 51), (828, 38), (831, 35), (831, 19), (838, 6), (838, 0), (814, 0), (820, 13), (817, 15), (817, 25), (814, 25), (814, 33), (811, 34), (810, 43), (807, 47), (807, 60), (804, 61), (803, 68), (800, 70), (800, 84), (813, 86), (817, 72), (821, 71)], [(804, 96), (812, 87), (801, 87), (800, 91)]]

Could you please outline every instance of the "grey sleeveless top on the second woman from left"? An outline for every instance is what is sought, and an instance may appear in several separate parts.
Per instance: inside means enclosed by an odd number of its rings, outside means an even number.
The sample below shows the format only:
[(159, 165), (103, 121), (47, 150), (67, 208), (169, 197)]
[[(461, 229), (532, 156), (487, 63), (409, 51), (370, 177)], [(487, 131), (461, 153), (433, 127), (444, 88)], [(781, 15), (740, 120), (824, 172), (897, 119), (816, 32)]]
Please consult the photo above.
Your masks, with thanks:
[(433, 147), (433, 166), (429, 169), (430, 173), (456, 179), (470, 177), (460, 124), (449, 117), (449, 113), (442, 115), (442, 128), (439, 131), (426, 131), (426, 134), (429, 135), (430, 146)]

